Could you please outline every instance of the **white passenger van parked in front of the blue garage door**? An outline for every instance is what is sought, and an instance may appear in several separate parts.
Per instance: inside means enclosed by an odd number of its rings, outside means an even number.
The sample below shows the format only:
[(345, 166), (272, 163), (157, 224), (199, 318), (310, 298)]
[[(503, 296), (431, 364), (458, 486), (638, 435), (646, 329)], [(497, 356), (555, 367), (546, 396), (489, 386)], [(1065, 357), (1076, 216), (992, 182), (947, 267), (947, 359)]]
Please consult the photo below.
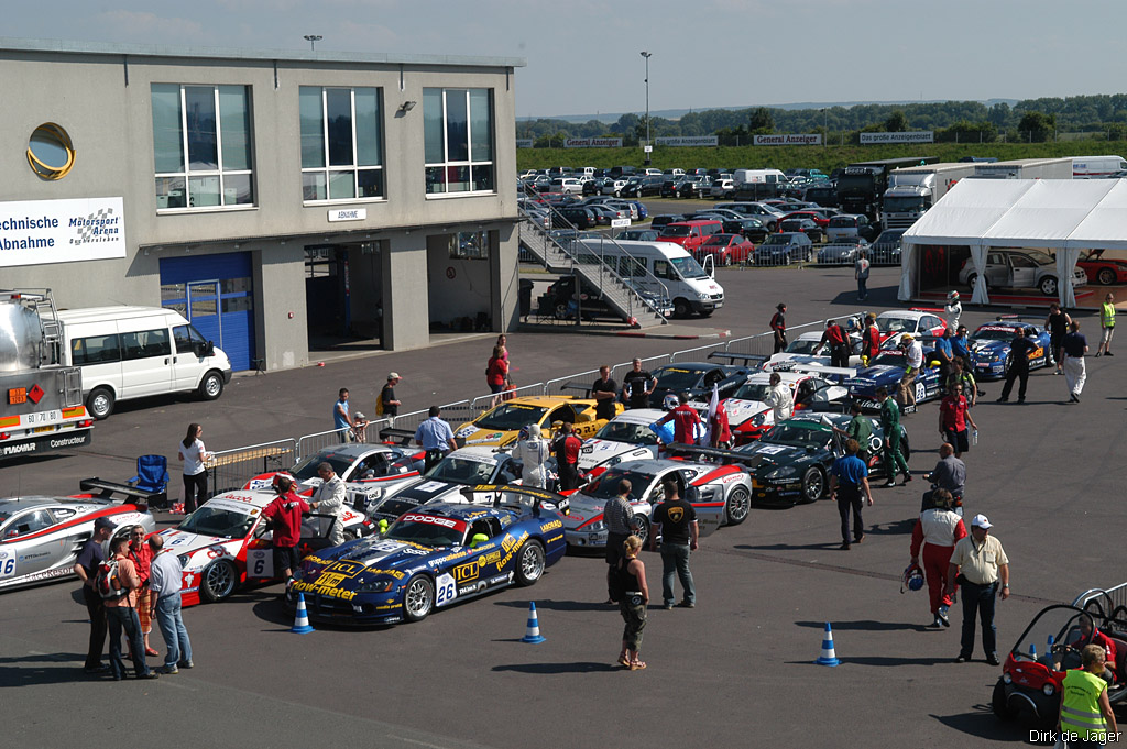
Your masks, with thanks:
[(62, 364), (82, 367), (82, 395), (96, 419), (116, 401), (196, 391), (213, 401), (231, 362), (175, 310), (100, 306), (61, 310)]

